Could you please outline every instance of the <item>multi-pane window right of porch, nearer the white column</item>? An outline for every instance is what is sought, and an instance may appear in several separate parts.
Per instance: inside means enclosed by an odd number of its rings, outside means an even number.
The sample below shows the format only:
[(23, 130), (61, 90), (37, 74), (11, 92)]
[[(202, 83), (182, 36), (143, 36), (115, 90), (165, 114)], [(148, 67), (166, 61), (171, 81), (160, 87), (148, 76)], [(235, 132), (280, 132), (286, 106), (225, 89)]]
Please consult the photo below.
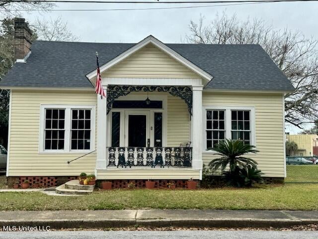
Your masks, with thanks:
[(211, 110), (206, 113), (207, 148), (211, 148), (225, 139), (225, 111)]

